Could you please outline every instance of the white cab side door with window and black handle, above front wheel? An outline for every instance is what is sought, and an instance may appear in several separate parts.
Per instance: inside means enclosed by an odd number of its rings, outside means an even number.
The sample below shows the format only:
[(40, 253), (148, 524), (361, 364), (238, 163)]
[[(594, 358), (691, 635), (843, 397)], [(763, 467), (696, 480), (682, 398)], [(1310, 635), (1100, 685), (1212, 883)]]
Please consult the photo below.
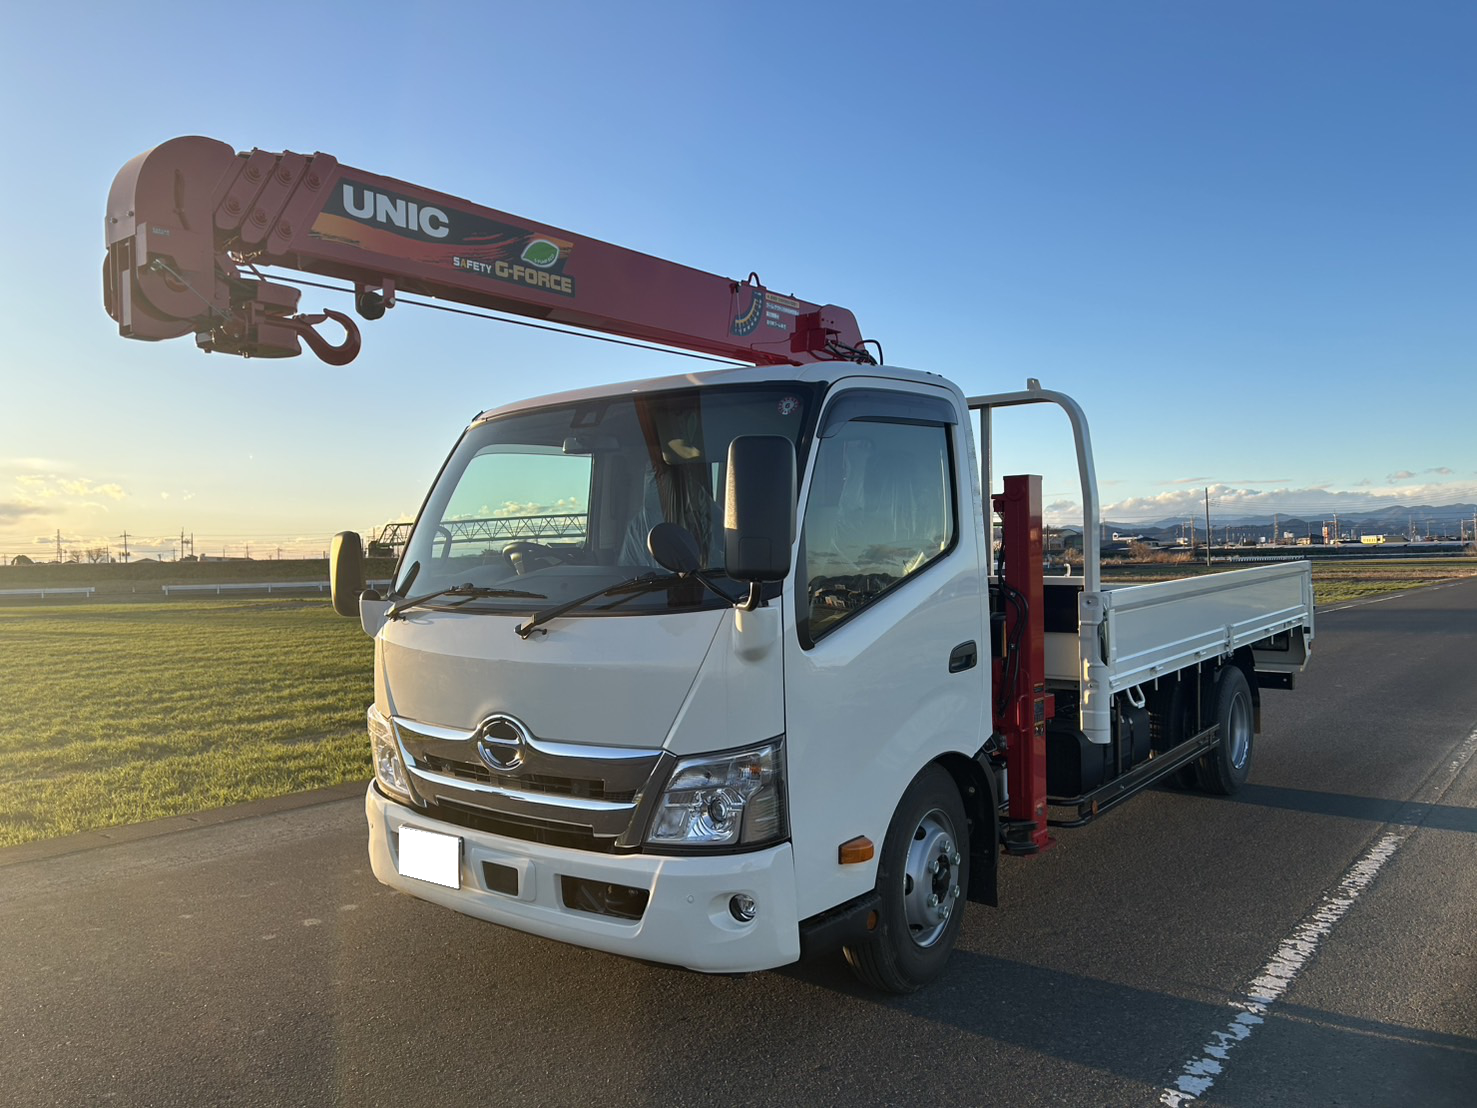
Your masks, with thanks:
[(786, 750), (801, 917), (867, 892), (898, 799), (988, 721), (987, 579), (962, 406), (942, 389), (836, 391), (817, 427), (787, 589)]

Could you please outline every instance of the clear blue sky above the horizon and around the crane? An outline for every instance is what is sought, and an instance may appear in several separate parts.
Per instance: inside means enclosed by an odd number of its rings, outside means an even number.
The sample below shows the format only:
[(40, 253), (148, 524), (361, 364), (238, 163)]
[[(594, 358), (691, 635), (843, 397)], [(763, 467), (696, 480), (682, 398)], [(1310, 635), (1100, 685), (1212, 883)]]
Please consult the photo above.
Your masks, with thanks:
[[(758, 270), (966, 393), (1038, 377), (1114, 519), (1477, 501), (1465, 0), (52, 3), (0, 49), (0, 555), (318, 551), (482, 408), (696, 365), (414, 309), (344, 369), (118, 338), (108, 186), (192, 133)], [(1065, 519), (1065, 421), (1001, 431)]]

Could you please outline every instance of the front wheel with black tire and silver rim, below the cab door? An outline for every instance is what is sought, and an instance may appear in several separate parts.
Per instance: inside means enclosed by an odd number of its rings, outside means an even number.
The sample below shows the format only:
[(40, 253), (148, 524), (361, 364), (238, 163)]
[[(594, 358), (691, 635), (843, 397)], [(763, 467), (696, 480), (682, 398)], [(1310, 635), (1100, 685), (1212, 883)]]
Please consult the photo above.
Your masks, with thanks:
[(846, 945), (863, 982), (911, 993), (944, 972), (964, 919), (969, 821), (959, 786), (926, 767), (898, 802), (877, 863), (877, 926)]

